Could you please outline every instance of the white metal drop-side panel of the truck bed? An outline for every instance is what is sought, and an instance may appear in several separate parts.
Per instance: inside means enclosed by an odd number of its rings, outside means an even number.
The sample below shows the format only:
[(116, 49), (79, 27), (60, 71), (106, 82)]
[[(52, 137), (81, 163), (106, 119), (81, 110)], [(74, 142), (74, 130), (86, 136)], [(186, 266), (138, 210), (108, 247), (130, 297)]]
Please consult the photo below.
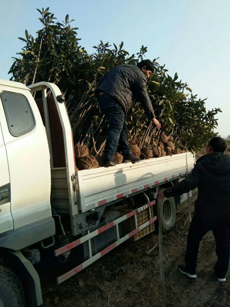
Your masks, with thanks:
[(88, 211), (132, 196), (140, 190), (190, 173), (194, 168), (194, 154), (180, 153), (172, 156), (122, 163), (75, 172), (78, 182), (79, 210)]

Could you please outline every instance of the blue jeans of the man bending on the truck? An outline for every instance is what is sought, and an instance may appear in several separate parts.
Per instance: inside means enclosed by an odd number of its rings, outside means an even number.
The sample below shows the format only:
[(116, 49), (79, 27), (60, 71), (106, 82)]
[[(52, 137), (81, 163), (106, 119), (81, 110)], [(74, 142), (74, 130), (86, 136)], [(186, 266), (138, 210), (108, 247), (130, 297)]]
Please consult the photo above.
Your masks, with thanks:
[(117, 145), (121, 147), (123, 155), (128, 155), (131, 150), (126, 138), (125, 111), (121, 103), (113, 96), (104, 93), (99, 96), (99, 106), (102, 113), (109, 120), (109, 133), (105, 145), (104, 159), (113, 159), (117, 152)]

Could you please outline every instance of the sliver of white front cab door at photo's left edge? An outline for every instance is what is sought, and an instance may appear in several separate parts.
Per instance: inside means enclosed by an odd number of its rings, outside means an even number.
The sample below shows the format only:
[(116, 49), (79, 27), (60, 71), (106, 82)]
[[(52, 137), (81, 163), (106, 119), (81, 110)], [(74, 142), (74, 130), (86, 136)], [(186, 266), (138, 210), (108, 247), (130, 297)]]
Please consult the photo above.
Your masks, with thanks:
[(13, 229), (10, 212), (10, 176), (0, 123), (0, 233)]

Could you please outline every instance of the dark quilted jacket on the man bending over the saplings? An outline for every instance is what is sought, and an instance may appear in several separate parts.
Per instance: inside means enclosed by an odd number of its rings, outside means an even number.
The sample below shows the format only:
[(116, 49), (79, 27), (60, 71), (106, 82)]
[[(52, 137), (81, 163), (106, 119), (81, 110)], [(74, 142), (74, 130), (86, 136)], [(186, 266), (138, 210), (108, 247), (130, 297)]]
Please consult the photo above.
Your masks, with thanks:
[(151, 100), (149, 99), (146, 84), (148, 78), (135, 65), (117, 65), (100, 80), (96, 91), (104, 91), (115, 97), (124, 107), (125, 114), (132, 106), (134, 99), (139, 99), (148, 119), (155, 118)]

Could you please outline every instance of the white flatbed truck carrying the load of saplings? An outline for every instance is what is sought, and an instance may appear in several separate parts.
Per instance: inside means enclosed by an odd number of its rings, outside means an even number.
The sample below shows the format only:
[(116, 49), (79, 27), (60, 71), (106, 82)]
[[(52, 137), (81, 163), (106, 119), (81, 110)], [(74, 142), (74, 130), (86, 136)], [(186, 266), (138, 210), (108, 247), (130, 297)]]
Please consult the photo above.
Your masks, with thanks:
[[(41, 98), (35, 101), (34, 92)], [(0, 98), (1, 307), (43, 305), (35, 268), (46, 253), (57, 262), (75, 259), (57, 278), (61, 283), (133, 235), (153, 230), (146, 231), (157, 215), (164, 232), (173, 227), (176, 205), (187, 194), (155, 204), (157, 192), (191, 172), (192, 153), (77, 171), (55, 84), (0, 79)], [(132, 227), (125, 230), (127, 221)]]

